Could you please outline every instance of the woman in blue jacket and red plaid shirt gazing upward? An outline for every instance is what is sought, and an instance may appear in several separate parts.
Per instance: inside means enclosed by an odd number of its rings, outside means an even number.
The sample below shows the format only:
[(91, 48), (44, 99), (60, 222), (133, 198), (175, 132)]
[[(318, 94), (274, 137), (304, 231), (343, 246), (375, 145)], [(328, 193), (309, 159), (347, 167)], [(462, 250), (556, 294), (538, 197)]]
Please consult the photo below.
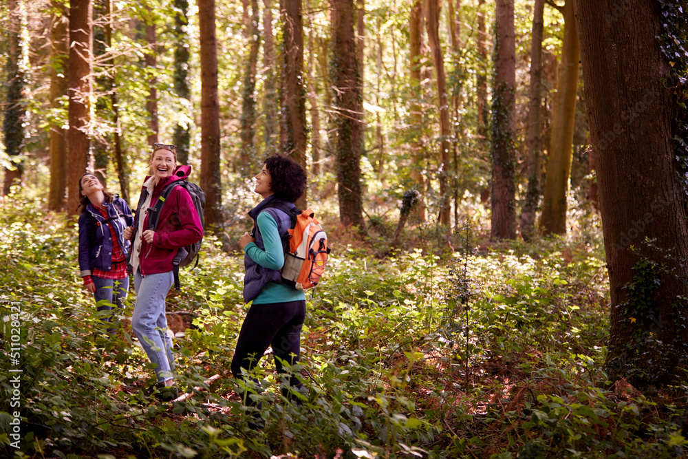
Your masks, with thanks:
[[(118, 195), (103, 189), (92, 173), (79, 180), (79, 268), (85, 288), (95, 299), (98, 312), (124, 308), (129, 290), (126, 255), (129, 241), (123, 237), (133, 224), (131, 209)], [(111, 322), (114, 312), (103, 312), (102, 320)], [(113, 332), (114, 329), (109, 329)]]

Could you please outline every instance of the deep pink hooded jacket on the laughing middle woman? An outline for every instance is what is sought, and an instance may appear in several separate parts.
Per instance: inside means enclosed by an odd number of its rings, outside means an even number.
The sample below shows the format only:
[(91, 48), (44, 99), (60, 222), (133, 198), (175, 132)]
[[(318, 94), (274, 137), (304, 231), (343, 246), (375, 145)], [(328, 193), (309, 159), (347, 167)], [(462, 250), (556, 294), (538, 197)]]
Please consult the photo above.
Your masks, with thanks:
[[(179, 166), (175, 169), (167, 183), (175, 180), (185, 180), (189, 177), (189, 173), (191, 173), (191, 166)], [(149, 177), (146, 178), (146, 180), (148, 179)], [(146, 180), (144, 180), (144, 183)], [(151, 205), (155, 203), (158, 197), (158, 194), (153, 195)], [(136, 215), (138, 224), (141, 224), (140, 217), (142, 215), (145, 215), (142, 223), (144, 225), (143, 228), (147, 228), (148, 213), (146, 209), (138, 211)], [(134, 228), (133, 234), (137, 234), (137, 228)], [(145, 239), (142, 239), (140, 252), (132, 254), (132, 256), (138, 255), (140, 257), (142, 275), (167, 273), (173, 269), (172, 260), (177, 255), (178, 249), (200, 241), (202, 237), (203, 228), (201, 220), (198, 217), (195, 206), (193, 206), (189, 192), (181, 186), (175, 186), (160, 211), (160, 219), (158, 220), (157, 228), (155, 228), (153, 244), (148, 244)]]

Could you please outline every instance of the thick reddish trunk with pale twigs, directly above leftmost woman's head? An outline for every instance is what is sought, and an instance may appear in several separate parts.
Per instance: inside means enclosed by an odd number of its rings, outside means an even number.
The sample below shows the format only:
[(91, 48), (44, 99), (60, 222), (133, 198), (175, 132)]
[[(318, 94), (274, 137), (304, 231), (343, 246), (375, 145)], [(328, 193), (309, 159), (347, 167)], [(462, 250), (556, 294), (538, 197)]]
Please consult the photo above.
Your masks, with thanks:
[(89, 98), (93, 91), (93, 6), (72, 0), (69, 6), (69, 138), (67, 150), (67, 211), (76, 215), (79, 179), (89, 164)]

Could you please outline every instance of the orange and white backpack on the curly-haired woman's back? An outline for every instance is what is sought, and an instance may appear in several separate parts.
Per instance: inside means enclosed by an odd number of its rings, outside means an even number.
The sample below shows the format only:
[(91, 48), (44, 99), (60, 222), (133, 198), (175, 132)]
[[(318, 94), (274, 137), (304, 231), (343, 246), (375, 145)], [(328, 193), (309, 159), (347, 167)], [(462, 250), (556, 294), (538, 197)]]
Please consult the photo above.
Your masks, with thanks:
[(325, 272), (327, 255), (330, 254), (323, 226), (315, 220), (313, 211), (306, 209), (296, 215), (294, 228), (287, 231), (289, 251), (284, 254), (282, 279), (297, 290), (316, 286)]

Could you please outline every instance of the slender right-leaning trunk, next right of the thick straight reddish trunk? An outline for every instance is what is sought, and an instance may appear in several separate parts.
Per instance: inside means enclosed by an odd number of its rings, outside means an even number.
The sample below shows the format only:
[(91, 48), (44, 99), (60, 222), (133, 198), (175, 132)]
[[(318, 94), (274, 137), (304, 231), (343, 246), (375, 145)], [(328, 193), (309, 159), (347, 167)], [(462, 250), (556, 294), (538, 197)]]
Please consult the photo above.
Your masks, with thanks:
[[(253, 138), (255, 136), (255, 118), (256, 118), (256, 67), (258, 64), (258, 52), (260, 50), (260, 30), (258, 28), (258, 21), (260, 20), (260, 12), (258, 10), (258, 0), (251, 0), (252, 15), (248, 24), (248, 43), (250, 51), (248, 53), (248, 62), (246, 63), (246, 70), (244, 72), (244, 91), (241, 94), (241, 172), (242, 175), (253, 173), (250, 169), (250, 158), (255, 157), (253, 148)], [(255, 162), (255, 161), (253, 161)]]

